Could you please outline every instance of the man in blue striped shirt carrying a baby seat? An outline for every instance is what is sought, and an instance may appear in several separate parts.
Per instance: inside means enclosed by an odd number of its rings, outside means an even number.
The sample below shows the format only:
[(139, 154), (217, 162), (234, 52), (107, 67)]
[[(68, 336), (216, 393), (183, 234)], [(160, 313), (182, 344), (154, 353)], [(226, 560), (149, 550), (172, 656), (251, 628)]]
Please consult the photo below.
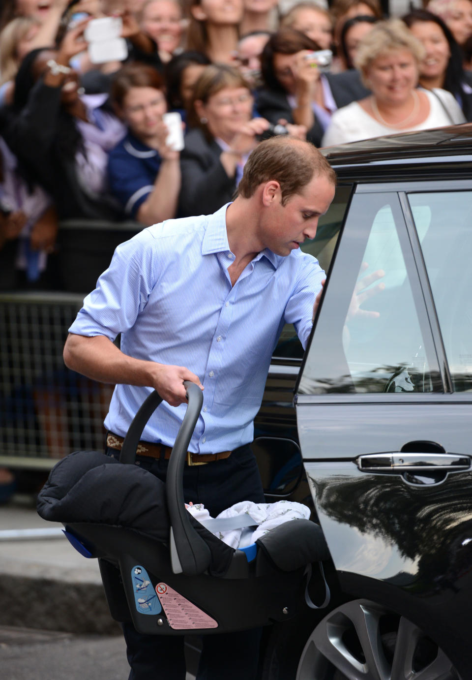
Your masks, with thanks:
[[(105, 419), (109, 454), (117, 455), (149, 392), (164, 399), (137, 456), (161, 479), (185, 413), (183, 381), (204, 389), (184, 487), (187, 502), (204, 503), (213, 516), (240, 500), (264, 500), (249, 448), (253, 419), (284, 324), (295, 325), (304, 346), (308, 340), (325, 273), (299, 245), (314, 237), (334, 189), (335, 174), (314, 146), (261, 142), (233, 203), (122, 243), (69, 328), (67, 366), (116, 385)], [(131, 626), (125, 636), (130, 679), (185, 678), (181, 637), (143, 636)], [(253, 631), (206, 636), (197, 677), (252, 679), (258, 641)], [(238, 665), (230, 668), (235, 645)]]

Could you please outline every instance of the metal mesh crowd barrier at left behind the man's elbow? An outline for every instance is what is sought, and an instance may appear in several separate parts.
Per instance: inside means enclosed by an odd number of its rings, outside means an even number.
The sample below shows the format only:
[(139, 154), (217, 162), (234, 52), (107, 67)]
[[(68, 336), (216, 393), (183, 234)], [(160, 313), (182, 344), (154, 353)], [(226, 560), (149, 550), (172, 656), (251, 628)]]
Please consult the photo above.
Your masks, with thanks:
[(103, 449), (113, 387), (62, 360), (83, 297), (0, 293), (0, 466), (49, 469), (76, 449)]

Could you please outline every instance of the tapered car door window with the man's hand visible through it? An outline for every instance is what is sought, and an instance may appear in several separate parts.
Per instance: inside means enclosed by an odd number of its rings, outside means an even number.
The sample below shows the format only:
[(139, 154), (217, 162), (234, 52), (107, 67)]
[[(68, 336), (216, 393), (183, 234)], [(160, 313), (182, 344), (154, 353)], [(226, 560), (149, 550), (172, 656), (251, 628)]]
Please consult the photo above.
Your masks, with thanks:
[(357, 194), (299, 391), (441, 390), (430, 333), (397, 194)]

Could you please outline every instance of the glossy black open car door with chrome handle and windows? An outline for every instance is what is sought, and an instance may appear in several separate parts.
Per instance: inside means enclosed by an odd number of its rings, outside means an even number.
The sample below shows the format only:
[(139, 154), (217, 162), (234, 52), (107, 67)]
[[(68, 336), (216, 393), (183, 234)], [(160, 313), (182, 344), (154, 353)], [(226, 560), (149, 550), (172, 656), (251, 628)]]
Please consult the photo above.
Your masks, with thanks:
[(297, 430), (342, 590), (407, 616), (470, 669), (472, 182), (398, 189), (352, 197)]

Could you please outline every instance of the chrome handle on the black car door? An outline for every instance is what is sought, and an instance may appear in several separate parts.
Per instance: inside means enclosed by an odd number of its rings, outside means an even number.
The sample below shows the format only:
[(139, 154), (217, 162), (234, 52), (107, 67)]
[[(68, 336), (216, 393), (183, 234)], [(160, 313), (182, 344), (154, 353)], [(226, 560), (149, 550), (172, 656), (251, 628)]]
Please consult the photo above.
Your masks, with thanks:
[(357, 458), (363, 472), (382, 472), (401, 475), (405, 472), (455, 472), (471, 469), (471, 458), (462, 454), (366, 454)]

